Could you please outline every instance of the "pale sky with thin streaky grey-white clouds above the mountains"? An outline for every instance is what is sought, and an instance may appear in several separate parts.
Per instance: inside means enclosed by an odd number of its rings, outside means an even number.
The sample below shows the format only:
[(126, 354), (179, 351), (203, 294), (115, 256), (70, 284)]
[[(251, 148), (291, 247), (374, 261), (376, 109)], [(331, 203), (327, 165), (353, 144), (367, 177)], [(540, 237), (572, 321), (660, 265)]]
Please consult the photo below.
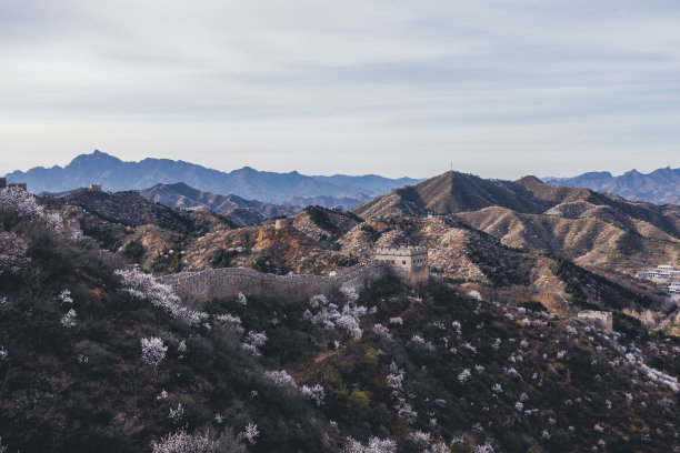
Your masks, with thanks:
[(0, 0), (0, 172), (680, 167), (677, 0)]

